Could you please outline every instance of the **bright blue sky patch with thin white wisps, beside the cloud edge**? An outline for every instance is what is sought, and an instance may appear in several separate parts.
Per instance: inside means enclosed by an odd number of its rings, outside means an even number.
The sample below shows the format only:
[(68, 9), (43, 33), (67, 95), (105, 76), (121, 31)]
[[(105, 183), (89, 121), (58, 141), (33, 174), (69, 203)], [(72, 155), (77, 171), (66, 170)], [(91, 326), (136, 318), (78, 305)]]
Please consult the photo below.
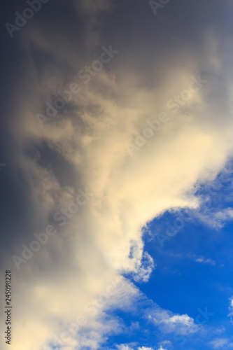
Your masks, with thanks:
[[(220, 212), (232, 208), (231, 167), (229, 162), (227, 171), (198, 187), (197, 196), (202, 201), (198, 213), (206, 215), (202, 221), (196, 211), (176, 209), (147, 225), (143, 241), (145, 250), (156, 257), (156, 266), (148, 283), (136, 283), (143, 293), (140, 307), (135, 305), (129, 313), (115, 312), (124, 320), (125, 336), (111, 338), (110, 343), (116, 345), (106, 349), (233, 348), (230, 321), (233, 286), (229, 277), (233, 264), (233, 226), (231, 219), (216, 223)], [(177, 218), (181, 221), (176, 221)], [(175, 227), (173, 237), (166, 235), (168, 227), (169, 232)], [(160, 232), (160, 239), (155, 232)], [(160, 330), (148, 318), (155, 304), (175, 315), (188, 315), (195, 320), (197, 329), (190, 332), (192, 325), (182, 335), (177, 330), (170, 332), (166, 326)]]

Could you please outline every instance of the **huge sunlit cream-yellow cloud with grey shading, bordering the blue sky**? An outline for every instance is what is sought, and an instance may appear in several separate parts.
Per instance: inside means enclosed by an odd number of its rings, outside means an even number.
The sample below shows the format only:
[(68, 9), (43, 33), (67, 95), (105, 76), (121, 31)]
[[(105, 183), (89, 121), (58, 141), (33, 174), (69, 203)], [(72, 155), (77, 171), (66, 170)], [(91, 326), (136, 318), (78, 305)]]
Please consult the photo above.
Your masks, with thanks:
[[(17, 220), (13, 213), (8, 215), (7, 249), (1, 248), (1, 257), (13, 271), (17, 290), (17, 350), (40, 350), (50, 342), (69, 350), (97, 349), (110, 335), (121, 332), (122, 320), (110, 318), (108, 310), (128, 310), (140, 296), (122, 275), (146, 282), (155, 266), (144, 249), (143, 227), (169, 209), (197, 208), (195, 183), (213, 179), (232, 153), (232, 116), (222, 92), (224, 85), (228, 94), (232, 76), (216, 47), (214, 31), (198, 37), (198, 50), (197, 42), (190, 47), (190, 38), (187, 52), (179, 45), (172, 48), (170, 36), (167, 41), (148, 36), (146, 49), (134, 47), (125, 35), (118, 45), (119, 35), (107, 21), (105, 31), (112, 34), (108, 45), (119, 50), (119, 58), (85, 85), (77, 72), (98, 58), (106, 41), (100, 29), (94, 34), (93, 27), (98, 10), (109, 10), (109, 1), (98, 1), (94, 10), (93, 1), (82, 1), (81, 8), (75, 1), (70, 3), (61, 1), (56, 16), (52, 8), (51, 16), (41, 20), (35, 16), (28, 30), (20, 31), (18, 61), (25, 62), (24, 69), (9, 83), (14, 89), (8, 103), (14, 106), (10, 122), (4, 121), (10, 135), (7, 152), (12, 153), (9, 167), (15, 174), (13, 196), (19, 196), (17, 209), (23, 214)], [(174, 38), (180, 34), (174, 33)], [(161, 45), (167, 45), (166, 59)], [(188, 66), (178, 66), (183, 55)], [(201, 88), (196, 83), (199, 90), (182, 100), (174, 113), (169, 100), (174, 102), (201, 72), (206, 84)], [(80, 84), (80, 93), (41, 130), (36, 113), (74, 81)], [(129, 155), (125, 144), (140, 144), (147, 120), (154, 123), (162, 112), (169, 122), (161, 123), (145, 146)], [(93, 197), (61, 227), (53, 215), (75, 200), (78, 188), (88, 188)], [(56, 225), (58, 234), (18, 272), (11, 256), (20, 255), (22, 244), (29, 244), (34, 232), (43, 232), (48, 223)], [(3, 281), (3, 271), (1, 277)], [(121, 290), (111, 284), (118, 279)], [(85, 318), (85, 325), (77, 326), (79, 316)], [(150, 317), (167, 333), (183, 335), (198, 329), (187, 314), (156, 307)], [(69, 330), (73, 323), (75, 332)], [(64, 340), (67, 336), (69, 341)]]

